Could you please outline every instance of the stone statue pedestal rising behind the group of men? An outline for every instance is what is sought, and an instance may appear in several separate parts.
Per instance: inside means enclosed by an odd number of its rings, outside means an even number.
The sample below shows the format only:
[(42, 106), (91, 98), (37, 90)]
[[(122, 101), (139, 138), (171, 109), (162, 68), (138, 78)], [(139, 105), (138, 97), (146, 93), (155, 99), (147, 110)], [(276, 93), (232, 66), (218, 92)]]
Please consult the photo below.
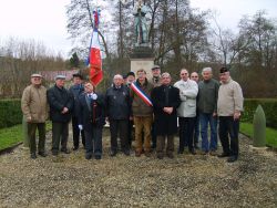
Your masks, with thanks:
[(151, 69), (154, 65), (154, 55), (148, 46), (135, 46), (131, 54), (131, 71), (145, 70), (147, 79), (152, 77)]

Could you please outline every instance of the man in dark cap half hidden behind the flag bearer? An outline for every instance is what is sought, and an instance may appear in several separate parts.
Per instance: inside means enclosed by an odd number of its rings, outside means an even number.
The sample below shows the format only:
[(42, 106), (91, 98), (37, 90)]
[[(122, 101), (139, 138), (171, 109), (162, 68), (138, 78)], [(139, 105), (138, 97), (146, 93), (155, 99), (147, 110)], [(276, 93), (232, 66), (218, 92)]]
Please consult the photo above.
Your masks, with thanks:
[(73, 111), (72, 111), (72, 132), (73, 132), (73, 150), (79, 148), (80, 133), (82, 137), (82, 144), (85, 147), (84, 131), (80, 131), (78, 127), (78, 101), (81, 94), (84, 92), (83, 76), (79, 73), (73, 74), (73, 85), (69, 89), (73, 96)]

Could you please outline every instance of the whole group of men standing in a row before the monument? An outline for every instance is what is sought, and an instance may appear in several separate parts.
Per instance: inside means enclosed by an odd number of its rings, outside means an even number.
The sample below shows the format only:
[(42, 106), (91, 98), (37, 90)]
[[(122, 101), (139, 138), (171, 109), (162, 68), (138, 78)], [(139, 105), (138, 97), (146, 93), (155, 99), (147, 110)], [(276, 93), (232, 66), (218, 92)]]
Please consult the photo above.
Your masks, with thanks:
[[(213, 79), (211, 67), (198, 74), (179, 72), (181, 80), (172, 84), (171, 74), (161, 74), (158, 65), (152, 67), (152, 79), (141, 69), (125, 77), (116, 74), (105, 93), (99, 93), (90, 82), (83, 82), (81, 74), (73, 75), (73, 85), (64, 87), (65, 77), (58, 75), (55, 84), (47, 90), (41, 85), (40, 74), (31, 75), (22, 95), (22, 112), (28, 122), (31, 158), (37, 158), (35, 129), (39, 129), (38, 154), (45, 154), (45, 119), (50, 110), (52, 121), (52, 155), (59, 150), (69, 154), (69, 123), (72, 119), (73, 150), (79, 149), (80, 135), (85, 148), (85, 158), (102, 158), (102, 129), (110, 124), (111, 150), (129, 156), (134, 126), (135, 156), (174, 157), (174, 136), (179, 133), (178, 154), (185, 147), (193, 155), (202, 135), (202, 154), (216, 155), (217, 122), (223, 153), (228, 162), (238, 158), (239, 117), (243, 111), (243, 93), (239, 84), (232, 80), (227, 67), (219, 70), (220, 83)], [(135, 80), (136, 77), (136, 80)], [(48, 106), (49, 105), (49, 106)], [(201, 126), (201, 131), (199, 131)], [(211, 139), (208, 139), (208, 126)], [(120, 146), (117, 145), (120, 138)], [(165, 145), (166, 144), (166, 145)], [(61, 148), (60, 148), (61, 145)]]

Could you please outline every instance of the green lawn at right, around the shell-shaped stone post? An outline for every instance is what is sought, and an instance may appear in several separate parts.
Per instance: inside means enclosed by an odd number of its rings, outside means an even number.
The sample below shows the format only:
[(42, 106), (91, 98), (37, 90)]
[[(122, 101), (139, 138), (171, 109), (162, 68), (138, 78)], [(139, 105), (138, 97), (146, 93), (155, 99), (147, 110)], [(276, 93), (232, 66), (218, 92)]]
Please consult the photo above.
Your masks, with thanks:
[[(240, 123), (239, 131), (253, 138), (253, 124)], [(277, 147), (277, 129), (266, 128), (266, 144), (271, 147)]]

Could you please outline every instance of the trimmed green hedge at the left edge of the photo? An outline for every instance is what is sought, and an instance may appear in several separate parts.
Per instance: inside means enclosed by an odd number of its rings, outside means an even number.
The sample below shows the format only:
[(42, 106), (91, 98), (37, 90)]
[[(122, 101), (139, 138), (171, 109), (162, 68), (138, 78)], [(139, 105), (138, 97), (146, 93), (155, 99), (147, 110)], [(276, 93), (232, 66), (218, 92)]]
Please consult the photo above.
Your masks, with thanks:
[(22, 123), (21, 101), (0, 101), (0, 128), (10, 127)]

